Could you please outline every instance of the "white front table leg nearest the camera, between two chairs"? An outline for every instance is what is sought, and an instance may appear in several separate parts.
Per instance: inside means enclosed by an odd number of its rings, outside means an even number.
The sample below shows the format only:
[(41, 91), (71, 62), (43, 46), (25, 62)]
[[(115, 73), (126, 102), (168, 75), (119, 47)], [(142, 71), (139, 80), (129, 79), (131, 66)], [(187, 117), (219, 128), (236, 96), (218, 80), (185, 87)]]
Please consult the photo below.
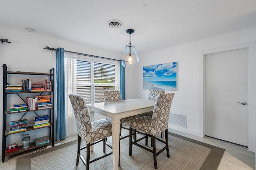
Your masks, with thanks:
[(113, 119), (112, 119), (113, 170), (118, 170), (119, 133), (120, 133), (120, 121), (113, 122)]

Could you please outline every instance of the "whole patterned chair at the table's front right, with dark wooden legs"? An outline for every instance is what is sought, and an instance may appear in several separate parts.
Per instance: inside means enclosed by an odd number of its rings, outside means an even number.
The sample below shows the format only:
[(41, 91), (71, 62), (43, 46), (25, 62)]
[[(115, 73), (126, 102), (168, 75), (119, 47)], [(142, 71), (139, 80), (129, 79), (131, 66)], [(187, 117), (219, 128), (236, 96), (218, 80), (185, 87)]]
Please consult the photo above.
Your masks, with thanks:
[[(166, 149), (167, 157), (170, 158), (169, 148), (168, 148), (168, 118), (170, 113), (170, 108), (172, 104), (172, 99), (174, 97), (174, 93), (167, 94), (159, 94), (156, 99), (156, 104), (154, 106), (152, 117), (144, 116), (139, 117), (130, 121), (130, 141), (129, 141), (129, 155), (132, 156), (132, 145), (135, 144), (142, 149), (145, 149), (142, 145), (138, 144), (137, 141), (132, 141), (133, 129), (136, 131), (142, 131), (146, 133), (148, 136), (152, 138), (153, 141), (153, 149), (150, 150), (146, 148), (146, 150), (153, 153), (154, 158), (154, 166), (157, 169), (156, 156), (163, 152)], [(165, 142), (158, 139), (158, 141), (163, 142), (166, 146), (161, 149), (158, 153), (156, 153), (156, 135), (165, 131)]]

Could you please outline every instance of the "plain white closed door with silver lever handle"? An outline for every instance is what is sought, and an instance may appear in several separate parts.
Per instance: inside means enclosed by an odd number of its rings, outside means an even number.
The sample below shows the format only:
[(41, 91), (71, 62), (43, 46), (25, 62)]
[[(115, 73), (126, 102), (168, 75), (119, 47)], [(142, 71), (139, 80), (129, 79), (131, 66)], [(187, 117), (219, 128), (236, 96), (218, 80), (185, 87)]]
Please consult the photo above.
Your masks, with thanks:
[[(248, 146), (248, 49), (206, 55), (205, 135)], [(238, 103), (240, 102), (240, 103)]]

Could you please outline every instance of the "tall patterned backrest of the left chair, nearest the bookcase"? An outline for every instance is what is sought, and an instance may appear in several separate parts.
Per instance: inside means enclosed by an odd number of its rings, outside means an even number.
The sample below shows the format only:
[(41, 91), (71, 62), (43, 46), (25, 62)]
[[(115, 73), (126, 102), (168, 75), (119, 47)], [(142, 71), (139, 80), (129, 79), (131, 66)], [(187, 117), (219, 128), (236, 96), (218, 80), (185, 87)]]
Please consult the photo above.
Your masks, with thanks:
[(75, 113), (77, 133), (87, 143), (91, 141), (89, 138), (92, 133), (92, 124), (86, 103), (82, 96), (70, 94), (68, 97)]

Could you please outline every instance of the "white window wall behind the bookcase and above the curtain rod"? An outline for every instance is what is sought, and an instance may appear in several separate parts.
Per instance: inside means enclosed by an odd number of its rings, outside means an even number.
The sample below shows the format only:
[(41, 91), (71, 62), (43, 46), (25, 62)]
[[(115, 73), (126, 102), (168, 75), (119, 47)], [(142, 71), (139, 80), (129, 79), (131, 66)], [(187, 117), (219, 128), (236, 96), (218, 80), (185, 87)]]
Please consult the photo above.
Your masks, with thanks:
[[(1, 43), (0, 44), (0, 64), (6, 64), (8, 66), (8, 71), (28, 71), (28, 72), (46, 72), (48, 73), (51, 68), (56, 68), (52, 62), (53, 57), (52, 51), (43, 49), (44, 47), (58, 48), (63, 47), (67, 51), (75, 51), (78, 53), (85, 53), (90, 55), (97, 55), (101, 57), (107, 57), (112, 59), (122, 59), (122, 53), (116, 53), (112, 51), (107, 51), (104, 49), (98, 49), (95, 47), (90, 47), (80, 43), (75, 43), (72, 41), (64, 41), (61, 39), (54, 39), (49, 37), (42, 37), (34, 33), (28, 33), (23, 31), (17, 31), (13, 29), (7, 29), (0, 27), (0, 38), (7, 38), (11, 43)], [(130, 87), (133, 85), (131, 80), (133, 74), (132, 69), (126, 70), (126, 89), (129, 92), (127, 94), (128, 98), (133, 98), (133, 93), (130, 90)], [(0, 89), (3, 88), (2, 84), (2, 75), (3, 69), (0, 69)], [(12, 75), (11, 75), (12, 76)], [(9, 75), (8, 75), (9, 77)], [(29, 76), (12, 76), (12, 83), (19, 83), (21, 79), (28, 78)], [(32, 77), (33, 78), (33, 77)], [(38, 78), (37, 76), (34, 78)], [(44, 79), (44, 78), (42, 78)], [(11, 81), (11, 80), (10, 80)], [(8, 94), (10, 95), (10, 94)], [(8, 98), (8, 104), (14, 104), (15, 102), (20, 103), (21, 100), (18, 99), (18, 96), (15, 97), (14, 94), (11, 94), (13, 97)], [(28, 95), (28, 94), (26, 94)], [(2, 90), (0, 94), (0, 110), (2, 111)], [(10, 106), (7, 106), (10, 107)], [(40, 115), (42, 112), (40, 112)], [(32, 125), (34, 113), (28, 112), (25, 116), (25, 119), (28, 119), (29, 124)], [(14, 121), (20, 119), (22, 113), (8, 115), (8, 121)], [(56, 117), (56, 115), (55, 115)], [(97, 119), (97, 117), (95, 117)], [(2, 143), (2, 116), (0, 116), (0, 143)], [(56, 128), (55, 128), (56, 129)], [(28, 131), (32, 137), (32, 142), (36, 137), (41, 137), (42, 135), (48, 135), (48, 128), (43, 128), (35, 131)], [(39, 134), (40, 133), (40, 134)], [(56, 134), (56, 133), (55, 133)], [(22, 144), (20, 139), (20, 134), (9, 135), (7, 138), (7, 143), (18, 143)], [(2, 149), (2, 147), (1, 147)], [(1, 151), (2, 153), (2, 151)]]

